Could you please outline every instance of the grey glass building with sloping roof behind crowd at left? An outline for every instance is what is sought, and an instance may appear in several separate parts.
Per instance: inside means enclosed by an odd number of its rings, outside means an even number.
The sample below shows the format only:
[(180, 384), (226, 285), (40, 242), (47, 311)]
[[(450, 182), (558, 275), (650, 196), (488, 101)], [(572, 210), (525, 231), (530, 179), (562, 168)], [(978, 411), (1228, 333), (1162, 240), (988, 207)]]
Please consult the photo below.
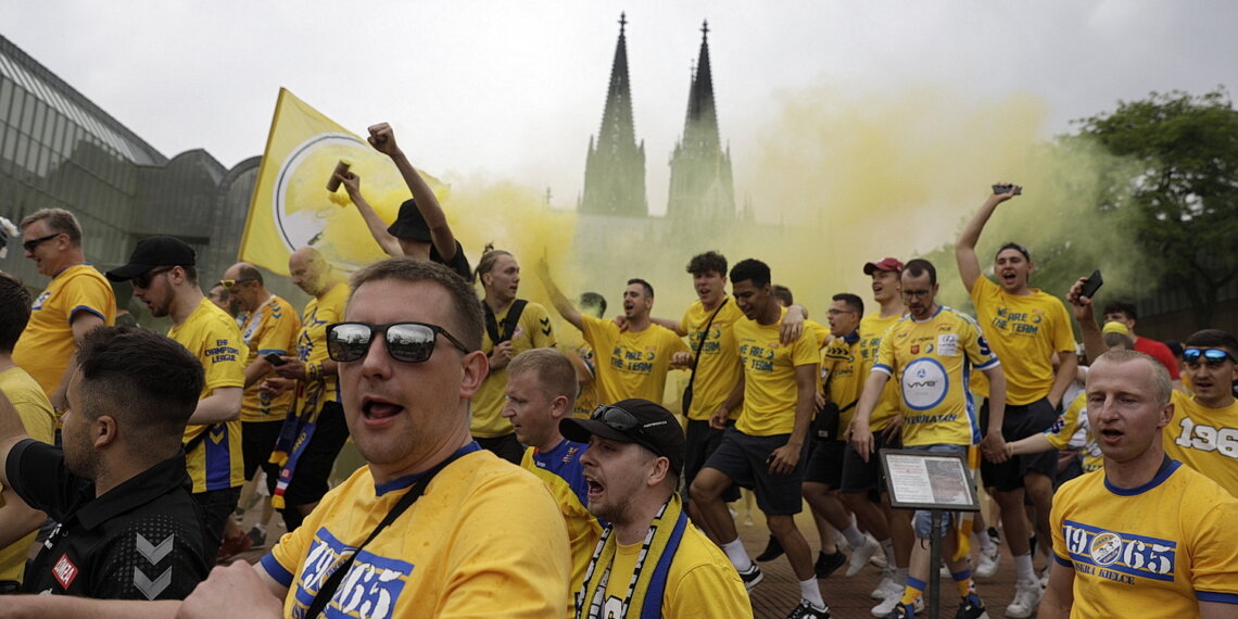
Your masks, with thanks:
[[(228, 170), (204, 150), (168, 158), (0, 36), (0, 215), (19, 224), (41, 208), (73, 212), (100, 271), (124, 264), (139, 240), (171, 234), (198, 251), (209, 287), (236, 261), (259, 162)], [(0, 270), (35, 292), (47, 284), (17, 239)], [(293, 305), (307, 298), (285, 279), (269, 284)], [(118, 290), (123, 306), (129, 296)]]

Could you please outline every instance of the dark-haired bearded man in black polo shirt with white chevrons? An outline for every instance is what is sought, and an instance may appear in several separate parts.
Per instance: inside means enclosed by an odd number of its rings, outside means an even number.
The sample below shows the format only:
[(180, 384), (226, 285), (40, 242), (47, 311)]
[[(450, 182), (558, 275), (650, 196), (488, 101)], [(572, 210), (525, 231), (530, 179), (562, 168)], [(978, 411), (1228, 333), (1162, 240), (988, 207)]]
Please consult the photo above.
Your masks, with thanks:
[[(202, 364), (163, 335), (100, 327), (78, 347), (63, 451), (26, 436), (0, 397), (0, 482), (59, 525), (22, 591), (109, 599), (181, 599), (207, 577), (202, 513), (181, 452)], [(9, 598), (5, 613), (88, 612), (85, 600)], [(31, 608), (24, 610), (25, 604)]]

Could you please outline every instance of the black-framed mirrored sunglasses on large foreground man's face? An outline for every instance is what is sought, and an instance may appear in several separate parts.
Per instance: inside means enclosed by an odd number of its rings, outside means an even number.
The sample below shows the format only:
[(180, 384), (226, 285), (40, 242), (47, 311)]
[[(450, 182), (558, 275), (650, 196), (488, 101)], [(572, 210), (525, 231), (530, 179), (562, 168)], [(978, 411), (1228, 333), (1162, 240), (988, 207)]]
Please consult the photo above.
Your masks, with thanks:
[(370, 352), (374, 334), (383, 333), (387, 354), (404, 363), (422, 363), (435, 353), (435, 337), (442, 333), (462, 353), (470, 350), (447, 329), (421, 322), (392, 322), (370, 324), (368, 322), (337, 322), (327, 326), (327, 355), (334, 361), (359, 361)]

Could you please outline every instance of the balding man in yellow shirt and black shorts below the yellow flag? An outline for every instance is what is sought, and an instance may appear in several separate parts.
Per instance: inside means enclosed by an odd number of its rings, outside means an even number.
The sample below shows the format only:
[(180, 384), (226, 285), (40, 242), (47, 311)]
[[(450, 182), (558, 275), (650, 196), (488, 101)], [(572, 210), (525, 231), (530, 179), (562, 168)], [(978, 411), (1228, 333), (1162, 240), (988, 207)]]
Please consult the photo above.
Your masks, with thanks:
[(297, 385), (296, 407), (285, 418), (272, 454), (281, 468), (271, 494), (285, 526), (293, 531), (327, 494), (331, 467), (348, 441), (339, 402), (339, 369), (327, 354), (327, 327), (344, 319), (348, 286), (313, 248), (293, 251), (288, 272), (292, 284), (313, 298), (301, 314), (295, 354), (284, 355), (284, 364), (275, 368), (281, 380), (267, 379), (264, 385), (272, 394), (286, 389), (288, 380)]

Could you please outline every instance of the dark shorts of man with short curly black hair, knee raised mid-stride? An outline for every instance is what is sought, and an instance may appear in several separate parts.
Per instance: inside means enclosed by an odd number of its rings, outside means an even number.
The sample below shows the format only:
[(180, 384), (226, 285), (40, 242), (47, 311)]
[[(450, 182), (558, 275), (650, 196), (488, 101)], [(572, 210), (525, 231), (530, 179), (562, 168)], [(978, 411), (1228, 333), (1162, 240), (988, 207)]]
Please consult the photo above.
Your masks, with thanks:
[(717, 469), (732, 482), (756, 491), (756, 506), (768, 516), (790, 516), (803, 506), (803, 469), (808, 448), (800, 449), (800, 462), (789, 474), (770, 473), (769, 458), (791, 435), (748, 436), (733, 427), (722, 435), (722, 444), (704, 468)]

